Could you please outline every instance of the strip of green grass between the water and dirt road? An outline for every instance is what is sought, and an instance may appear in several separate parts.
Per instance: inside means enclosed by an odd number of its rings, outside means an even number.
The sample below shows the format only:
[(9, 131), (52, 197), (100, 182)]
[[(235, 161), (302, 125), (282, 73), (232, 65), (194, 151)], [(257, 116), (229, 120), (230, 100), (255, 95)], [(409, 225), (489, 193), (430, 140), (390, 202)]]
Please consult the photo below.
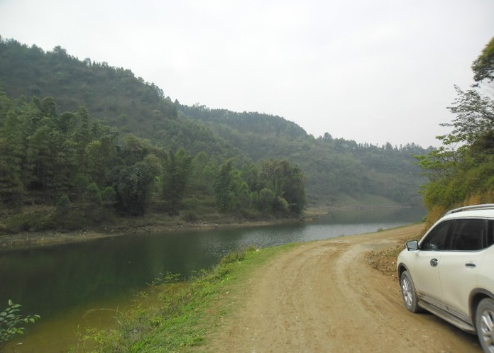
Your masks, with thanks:
[(250, 248), (224, 257), (209, 271), (187, 282), (155, 286), (138, 296), (136, 305), (119, 314), (119, 326), (93, 330), (81, 337), (74, 352), (192, 352), (206, 344), (221, 318), (245, 295), (247, 280), (270, 259), (297, 244)]

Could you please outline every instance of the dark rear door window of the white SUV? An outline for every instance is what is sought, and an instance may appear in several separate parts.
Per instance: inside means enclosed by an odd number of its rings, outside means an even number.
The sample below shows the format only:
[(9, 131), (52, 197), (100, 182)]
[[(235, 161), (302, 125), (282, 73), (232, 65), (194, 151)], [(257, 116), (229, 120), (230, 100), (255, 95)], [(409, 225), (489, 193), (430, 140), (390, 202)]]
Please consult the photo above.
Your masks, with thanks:
[(459, 219), (456, 220), (451, 250), (474, 251), (482, 250), (486, 242), (487, 220)]

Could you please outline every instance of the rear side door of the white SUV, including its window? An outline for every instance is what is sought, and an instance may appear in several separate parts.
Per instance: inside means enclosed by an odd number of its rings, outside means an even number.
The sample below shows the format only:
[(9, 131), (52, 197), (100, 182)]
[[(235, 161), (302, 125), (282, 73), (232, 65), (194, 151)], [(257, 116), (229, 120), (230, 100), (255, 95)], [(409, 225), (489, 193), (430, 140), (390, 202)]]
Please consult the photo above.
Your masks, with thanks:
[(457, 219), (438, 266), (446, 307), (451, 314), (467, 322), (471, 321), (468, 315), (469, 296), (477, 286), (483, 250), (488, 246), (487, 230), (488, 222), (485, 219)]

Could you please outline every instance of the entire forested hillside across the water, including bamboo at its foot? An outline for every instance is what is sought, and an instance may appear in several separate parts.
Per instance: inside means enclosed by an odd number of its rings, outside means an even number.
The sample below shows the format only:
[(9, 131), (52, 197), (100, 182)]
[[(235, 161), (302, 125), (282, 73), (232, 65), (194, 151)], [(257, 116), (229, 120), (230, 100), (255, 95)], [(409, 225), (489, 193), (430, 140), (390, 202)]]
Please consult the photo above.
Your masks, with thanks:
[[(97, 195), (101, 205), (142, 214), (158, 194), (171, 214), (190, 209), (187, 200), (255, 214), (421, 202), (414, 155), (429, 152), (422, 147), (314, 138), (279, 116), (185, 106), (129, 69), (61, 47), (0, 38), (0, 87), (0, 189), (9, 207)], [(126, 209), (136, 195), (142, 209)]]

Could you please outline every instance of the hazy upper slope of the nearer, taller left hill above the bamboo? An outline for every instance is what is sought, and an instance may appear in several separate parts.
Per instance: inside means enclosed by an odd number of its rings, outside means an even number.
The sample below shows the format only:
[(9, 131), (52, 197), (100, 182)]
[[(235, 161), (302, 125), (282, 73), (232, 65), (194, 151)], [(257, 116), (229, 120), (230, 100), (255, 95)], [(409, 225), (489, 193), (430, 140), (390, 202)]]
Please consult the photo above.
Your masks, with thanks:
[(75, 111), (82, 104), (97, 118), (104, 117), (111, 125), (145, 137), (154, 135), (156, 126), (137, 119), (124, 121), (121, 115), (153, 118), (155, 125), (162, 126), (177, 118), (173, 103), (154, 84), (106, 62), (78, 60), (61, 47), (43, 52), (35, 45), (0, 40), (0, 72), (11, 96), (53, 96), (61, 111)]

